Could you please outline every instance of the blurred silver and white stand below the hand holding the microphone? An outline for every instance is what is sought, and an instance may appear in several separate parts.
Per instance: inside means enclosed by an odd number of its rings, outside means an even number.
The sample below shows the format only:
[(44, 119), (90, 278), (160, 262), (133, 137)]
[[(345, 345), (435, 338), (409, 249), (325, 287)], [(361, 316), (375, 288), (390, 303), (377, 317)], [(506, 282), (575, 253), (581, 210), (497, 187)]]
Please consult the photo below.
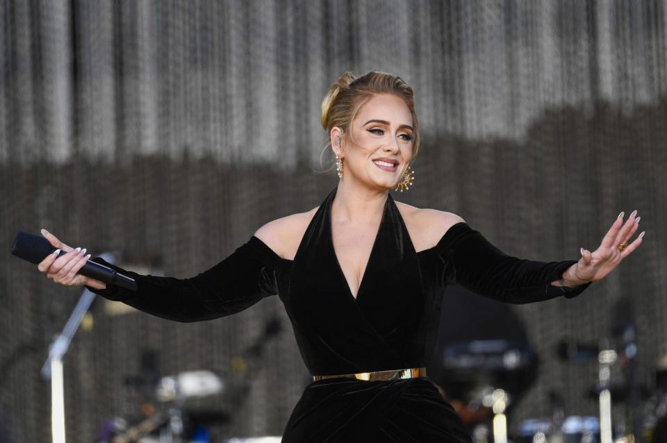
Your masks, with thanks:
[[(101, 254), (107, 262), (113, 264), (115, 258), (110, 253)], [(51, 433), (53, 443), (65, 443), (65, 381), (63, 379), (63, 357), (72, 343), (74, 334), (79, 329), (81, 320), (90, 304), (95, 298), (95, 294), (88, 288), (84, 288), (83, 294), (79, 297), (76, 307), (69, 315), (67, 324), (58, 337), (49, 345), (49, 356), (42, 367), (42, 378), (51, 379)]]

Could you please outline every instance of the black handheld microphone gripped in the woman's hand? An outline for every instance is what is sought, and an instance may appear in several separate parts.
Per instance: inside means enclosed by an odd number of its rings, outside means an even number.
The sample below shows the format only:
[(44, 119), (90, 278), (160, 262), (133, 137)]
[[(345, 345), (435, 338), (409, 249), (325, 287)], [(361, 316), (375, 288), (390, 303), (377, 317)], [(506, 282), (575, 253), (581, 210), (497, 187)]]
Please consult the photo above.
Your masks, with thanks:
[[(21, 231), (17, 233), (14, 238), (14, 243), (12, 244), (12, 253), (15, 256), (28, 260), (28, 262), (35, 263), (35, 265), (39, 265), (40, 262), (42, 262), (42, 260), (44, 260), (50, 253), (53, 253), (53, 251), (56, 251), (56, 248), (49, 243), (49, 240), (40, 235), (24, 233)], [(58, 256), (62, 256), (65, 253), (65, 251), (60, 251)], [(78, 274), (103, 281), (108, 285), (116, 285), (132, 291), (137, 290), (137, 283), (134, 281), (134, 278), (118, 274), (114, 269), (100, 265), (91, 260), (85, 262), (85, 265), (79, 269)]]

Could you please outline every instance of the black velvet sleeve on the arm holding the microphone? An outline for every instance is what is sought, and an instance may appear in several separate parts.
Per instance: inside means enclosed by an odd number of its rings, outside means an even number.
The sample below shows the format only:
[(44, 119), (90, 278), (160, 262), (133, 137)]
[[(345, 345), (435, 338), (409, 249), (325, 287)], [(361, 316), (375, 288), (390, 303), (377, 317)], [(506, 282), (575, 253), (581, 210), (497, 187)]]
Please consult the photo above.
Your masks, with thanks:
[(176, 321), (202, 321), (231, 315), (277, 294), (279, 257), (257, 237), (239, 246), (217, 265), (192, 278), (136, 274), (106, 260), (92, 260), (130, 276), (137, 282), (131, 291), (115, 285), (88, 290), (106, 299), (122, 301), (138, 310)]

